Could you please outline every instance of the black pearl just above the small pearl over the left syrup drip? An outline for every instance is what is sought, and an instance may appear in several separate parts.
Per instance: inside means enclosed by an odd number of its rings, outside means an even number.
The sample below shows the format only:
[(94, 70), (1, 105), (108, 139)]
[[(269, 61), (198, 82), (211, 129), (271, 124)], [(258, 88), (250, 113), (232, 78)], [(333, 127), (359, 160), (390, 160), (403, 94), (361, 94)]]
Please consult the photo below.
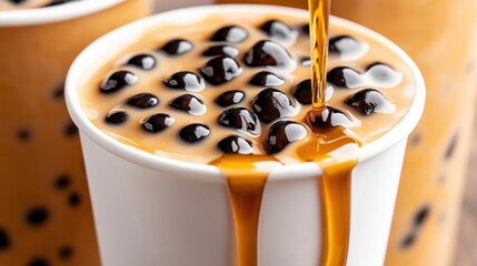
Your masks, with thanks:
[(261, 132), (257, 115), (245, 108), (232, 108), (223, 111), (218, 119), (218, 123), (250, 135), (259, 135)]

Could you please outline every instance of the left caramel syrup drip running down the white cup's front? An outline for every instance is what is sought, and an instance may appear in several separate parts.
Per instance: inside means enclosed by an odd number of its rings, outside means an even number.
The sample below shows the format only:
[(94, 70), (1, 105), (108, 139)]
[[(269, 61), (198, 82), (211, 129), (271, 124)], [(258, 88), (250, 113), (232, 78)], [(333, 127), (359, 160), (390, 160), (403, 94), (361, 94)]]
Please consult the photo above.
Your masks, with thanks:
[(282, 164), (259, 155), (223, 155), (211, 165), (227, 177), (233, 211), (238, 266), (258, 264), (258, 223), (265, 184), (270, 172)]

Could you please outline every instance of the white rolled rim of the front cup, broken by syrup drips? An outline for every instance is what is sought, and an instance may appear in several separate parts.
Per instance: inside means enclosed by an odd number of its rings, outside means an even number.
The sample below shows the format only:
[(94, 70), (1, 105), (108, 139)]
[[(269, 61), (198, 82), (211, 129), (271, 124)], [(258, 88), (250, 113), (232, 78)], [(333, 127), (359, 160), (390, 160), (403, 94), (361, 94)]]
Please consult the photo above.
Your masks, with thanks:
[[(73, 122), (79, 127), (81, 134), (89, 137), (92, 142), (98, 144), (100, 147), (107, 150), (108, 152), (125, 158), (126, 161), (132, 162), (138, 165), (142, 165), (147, 168), (151, 170), (160, 170), (160, 171), (179, 171), (179, 172), (188, 172), (192, 173), (191, 176), (210, 176), (213, 173), (217, 173), (217, 167), (207, 164), (199, 164), (192, 162), (185, 162), (169, 157), (162, 157), (152, 153), (148, 153), (146, 151), (129, 146), (125, 143), (121, 143), (113, 137), (107, 135), (105, 132), (96, 127), (86, 115), (85, 110), (82, 109), (79, 98), (77, 96), (77, 89), (79, 89), (76, 84), (77, 81), (80, 80), (79, 74), (82, 70), (87, 69), (89, 63), (95, 60), (101, 48), (107, 49), (107, 44), (111, 43), (113, 40), (122, 39), (123, 32), (128, 32), (131, 34), (140, 34), (145, 29), (149, 29), (150, 27), (158, 25), (160, 23), (170, 23), (170, 21), (175, 17), (182, 16), (186, 18), (191, 18), (192, 20), (200, 16), (207, 16), (213, 12), (244, 12), (244, 13), (260, 13), (264, 10), (274, 13), (284, 13), (291, 16), (309, 16), (307, 10), (296, 9), (296, 8), (286, 8), (286, 7), (277, 7), (277, 6), (268, 6), (268, 4), (211, 4), (211, 6), (200, 6), (200, 7), (191, 7), (177, 9), (163, 13), (159, 13), (149, 18), (145, 18), (127, 25), (123, 25), (91, 43), (86, 50), (83, 50), (80, 55), (74, 60), (71, 65), (67, 81), (66, 81), (66, 102), (68, 106), (68, 111)], [(200, 17), (202, 18), (202, 17)], [(403, 61), (410, 68), (413, 78), (416, 81), (416, 92), (413, 99), (411, 105), (409, 108), (408, 113), (405, 117), (389, 132), (374, 142), (364, 145), (359, 149), (359, 157), (358, 163), (362, 163), (374, 156), (382, 153), (384, 151), (395, 146), (400, 141), (408, 137), (411, 131), (418, 124), (420, 116), (424, 112), (425, 105), (425, 82), (423, 75), (417, 68), (416, 63), (394, 42), (386, 39), (385, 37), (376, 33), (372, 30), (369, 30), (362, 25), (350, 22), (348, 20), (344, 20), (340, 18), (331, 17), (331, 23), (338, 23), (340, 25), (345, 25), (348, 28), (352, 28), (354, 30), (360, 31), (367, 35), (370, 35), (374, 39), (377, 39), (389, 47), (390, 50), (396, 52)], [(299, 165), (306, 165), (310, 163), (300, 163)], [(287, 168), (296, 167), (296, 165), (284, 165), (277, 167), (276, 171), (286, 171)], [(274, 170), (275, 173), (275, 170)]]

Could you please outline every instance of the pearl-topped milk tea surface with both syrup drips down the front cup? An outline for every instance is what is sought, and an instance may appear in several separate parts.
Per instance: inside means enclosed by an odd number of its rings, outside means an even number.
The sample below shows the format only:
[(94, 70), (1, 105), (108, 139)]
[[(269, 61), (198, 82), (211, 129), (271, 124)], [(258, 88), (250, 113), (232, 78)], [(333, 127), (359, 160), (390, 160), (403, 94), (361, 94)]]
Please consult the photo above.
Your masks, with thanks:
[[(222, 171), (241, 266), (257, 262), (268, 174), (302, 162), (316, 162), (334, 177), (319, 184), (326, 219), (322, 264), (334, 264), (327, 256), (346, 262), (358, 146), (399, 123), (415, 94), (411, 71), (399, 54), (334, 24), (327, 109), (309, 116), (309, 31), (307, 18), (267, 12), (171, 22), (148, 29), (79, 84), (87, 116), (106, 134), (159, 156)], [(337, 202), (341, 208), (334, 206)]]

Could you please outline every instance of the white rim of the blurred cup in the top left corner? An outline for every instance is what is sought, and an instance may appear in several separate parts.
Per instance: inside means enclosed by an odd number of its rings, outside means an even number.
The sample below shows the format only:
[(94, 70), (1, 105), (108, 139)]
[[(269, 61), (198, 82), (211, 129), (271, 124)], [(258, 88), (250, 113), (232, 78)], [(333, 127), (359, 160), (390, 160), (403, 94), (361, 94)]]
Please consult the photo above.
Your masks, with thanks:
[(0, 27), (59, 22), (101, 11), (125, 0), (81, 0), (47, 8), (0, 11)]

